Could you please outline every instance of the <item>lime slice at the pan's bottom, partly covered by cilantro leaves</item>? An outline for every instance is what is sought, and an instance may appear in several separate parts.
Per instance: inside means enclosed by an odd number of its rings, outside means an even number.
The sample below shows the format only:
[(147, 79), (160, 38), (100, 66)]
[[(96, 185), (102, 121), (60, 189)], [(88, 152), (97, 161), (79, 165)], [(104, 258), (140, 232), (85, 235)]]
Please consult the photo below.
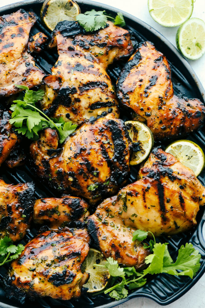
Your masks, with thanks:
[(105, 288), (110, 278), (110, 274), (107, 268), (100, 266), (93, 266), (93, 264), (104, 265), (106, 260), (103, 254), (93, 248), (90, 248), (89, 253), (82, 264), (82, 273), (88, 273), (90, 275), (89, 280), (83, 285), (84, 288), (88, 288), (89, 293), (101, 291)]

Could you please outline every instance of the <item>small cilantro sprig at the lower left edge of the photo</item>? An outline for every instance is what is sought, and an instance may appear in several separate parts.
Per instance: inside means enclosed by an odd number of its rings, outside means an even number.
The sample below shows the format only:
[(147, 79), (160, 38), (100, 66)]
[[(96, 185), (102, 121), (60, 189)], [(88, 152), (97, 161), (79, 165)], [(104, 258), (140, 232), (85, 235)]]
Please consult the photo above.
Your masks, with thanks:
[(24, 250), (24, 246), (22, 244), (18, 244), (17, 246), (13, 244), (10, 237), (3, 237), (0, 239), (0, 266), (13, 261), (18, 258), (21, 252)]

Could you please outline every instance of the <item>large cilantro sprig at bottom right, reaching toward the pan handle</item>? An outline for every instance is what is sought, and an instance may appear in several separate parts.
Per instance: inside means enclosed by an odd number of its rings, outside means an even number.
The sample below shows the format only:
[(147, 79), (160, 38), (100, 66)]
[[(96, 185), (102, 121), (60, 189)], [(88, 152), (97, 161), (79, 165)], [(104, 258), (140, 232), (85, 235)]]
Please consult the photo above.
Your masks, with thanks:
[(156, 243), (152, 232), (136, 230), (132, 240), (143, 241), (147, 238), (148, 233), (153, 236), (149, 245), (144, 244), (144, 248), (150, 248), (152, 252), (145, 258), (145, 263), (149, 264), (148, 267), (138, 273), (134, 267), (120, 267), (117, 261), (111, 257), (107, 258), (104, 265), (93, 264), (93, 266), (107, 268), (111, 276), (108, 288), (96, 294), (104, 292), (104, 294), (109, 294), (110, 297), (119, 300), (128, 296), (128, 289), (134, 290), (143, 286), (147, 282), (147, 278), (144, 278), (147, 274), (167, 273), (176, 276), (189, 276), (190, 278), (196, 275), (200, 267), (201, 255), (191, 243), (180, 247), (178, 257), (174, 262), (168, 252), (168, 243)]

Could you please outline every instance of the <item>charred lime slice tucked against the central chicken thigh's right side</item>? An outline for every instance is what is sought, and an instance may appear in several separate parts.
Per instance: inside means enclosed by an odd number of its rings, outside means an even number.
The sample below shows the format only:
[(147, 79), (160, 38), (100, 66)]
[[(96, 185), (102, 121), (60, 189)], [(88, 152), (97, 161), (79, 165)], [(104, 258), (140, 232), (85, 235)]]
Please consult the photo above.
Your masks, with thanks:
[(125, 125), (132, 140), (130, 165), (140, 164), (147, 158), (154, 145), (152, 132), (140, 121), (126, 121)]

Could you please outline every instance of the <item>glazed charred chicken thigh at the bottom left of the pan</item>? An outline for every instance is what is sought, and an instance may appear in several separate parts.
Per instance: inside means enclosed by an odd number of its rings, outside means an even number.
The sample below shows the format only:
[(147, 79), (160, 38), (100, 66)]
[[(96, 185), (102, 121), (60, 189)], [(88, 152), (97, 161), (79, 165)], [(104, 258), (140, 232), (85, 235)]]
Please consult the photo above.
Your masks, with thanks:
[(81, 272), (89, 235), (85, 229), (71, 231), (49, 230), (25, 245), (4, 279), (8, 297), (24, 303), (26, 296), (69, 300), (81, 295), (89, 278)]

